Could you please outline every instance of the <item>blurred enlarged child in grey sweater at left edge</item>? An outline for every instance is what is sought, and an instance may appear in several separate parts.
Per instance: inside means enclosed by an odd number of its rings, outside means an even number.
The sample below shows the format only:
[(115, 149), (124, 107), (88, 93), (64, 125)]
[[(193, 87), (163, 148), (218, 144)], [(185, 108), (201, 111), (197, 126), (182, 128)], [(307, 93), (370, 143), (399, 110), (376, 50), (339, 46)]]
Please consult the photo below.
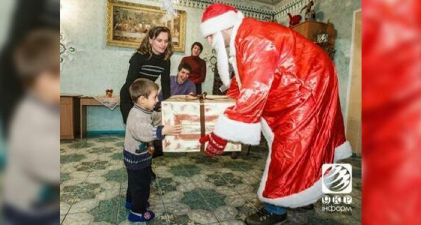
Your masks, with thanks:
[(12, 119), (3, 186), (5, 224), (60, 222), (59, 31), (32, 31), (14, 52), (25, 95)]

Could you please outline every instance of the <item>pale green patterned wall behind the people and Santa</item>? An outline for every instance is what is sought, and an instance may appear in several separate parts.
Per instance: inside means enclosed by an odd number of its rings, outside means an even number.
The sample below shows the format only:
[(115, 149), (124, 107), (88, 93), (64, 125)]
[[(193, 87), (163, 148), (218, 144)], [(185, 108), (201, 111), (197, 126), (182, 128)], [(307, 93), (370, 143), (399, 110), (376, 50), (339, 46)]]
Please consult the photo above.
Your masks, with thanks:
[[(161, 6), (161, 0), (126, 0), (135, 3)], [(272, 6), (250, 0), (177, 0), (176, 9), (184, 10), (186, 18), (185, 51), (176, 52), (171, 57), (171, 75), (176, 74), (181, 58), (190, 54), (190, 46), (194, 41), (203, 44), (201, 57), (207, 61), (214, 61), (210, 46), (205, 42), (199, 31), (199, 21), (203, 8), (210, 2), (224, 2), (236, 6), (246, 16), (262, 20), (271, 20), (272, 16), (284, 24), (288, 21), (288, 11), (300, 10), (308, 0), (281, 1)], [(320, 3), (318, 3), (320, 2)], [(351, 38), (352, 12), (361, 7), (359, 0), (320, 0), (315, 4), (318, 19), (331, 22), (338, 30), (335, 55), (340, 84), (341, 102), (346, 96), (346, 82), (348, 76), (349, 47)], [(134, 49), (107, 46), (106, 43), (106, 0), (62, 0), (61, 26), (65, 34), (65, 42), (75, 49), (69, 52), (73, 60), (62, 63), (61, 89), (63, 93), (79, 93), (85, 95), (103, 94), (108, 87), (119, 93), (125, 81), (128, 61)], [(284, 16), (285, 15), (285, 16)], [(67, 49), (67, 48), (66, 48)], [(83, 50), (80, 50), (83, 49)], [(338, 64), (339, 63), (339, 64)], [(208, 63), (207, 75), (202, 89), (212, 92), (213, 65)], [(160, 83), (159, 80), (157, 80)], [(88, 107), (88, 130), (124, 130), (119, 107), (113, 111), (105, 107)]]

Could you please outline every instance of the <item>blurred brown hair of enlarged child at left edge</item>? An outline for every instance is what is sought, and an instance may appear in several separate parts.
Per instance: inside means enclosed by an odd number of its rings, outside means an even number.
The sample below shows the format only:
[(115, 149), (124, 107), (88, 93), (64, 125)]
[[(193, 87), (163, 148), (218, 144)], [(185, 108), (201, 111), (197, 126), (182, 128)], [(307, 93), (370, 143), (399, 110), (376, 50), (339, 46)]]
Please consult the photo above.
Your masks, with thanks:
[(60, 75), (60, 33), (53, 29), (32, 31), (18, 45), (14, 61), (22, 81), (32, 85), (42, 72)]

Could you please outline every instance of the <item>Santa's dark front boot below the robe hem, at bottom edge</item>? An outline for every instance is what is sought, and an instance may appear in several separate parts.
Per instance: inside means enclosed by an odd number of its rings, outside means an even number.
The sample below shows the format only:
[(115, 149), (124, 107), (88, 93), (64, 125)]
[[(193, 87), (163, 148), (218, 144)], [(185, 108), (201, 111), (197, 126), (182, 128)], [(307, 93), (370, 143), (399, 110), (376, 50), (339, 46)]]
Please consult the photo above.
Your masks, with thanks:
[(287, 213), (275, 214), (262, 207), (254, 214), (247, 216), (246, 224), (248, 225), (272, 225), (282, 224), (287, 221)]

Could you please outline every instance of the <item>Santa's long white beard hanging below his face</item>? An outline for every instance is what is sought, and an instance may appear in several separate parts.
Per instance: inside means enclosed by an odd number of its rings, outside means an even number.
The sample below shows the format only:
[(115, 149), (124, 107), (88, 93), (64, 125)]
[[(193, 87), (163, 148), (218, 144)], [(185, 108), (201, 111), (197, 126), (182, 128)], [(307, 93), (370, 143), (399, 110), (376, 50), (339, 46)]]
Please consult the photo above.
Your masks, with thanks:
[(217, 51), (218, 72), (222, 82), (228, 88), (231, 84), (230, 66), (228, 65), (228, 55), (225, 49), (224, 37), (221, 31), (215, 33), (212, 47)]

